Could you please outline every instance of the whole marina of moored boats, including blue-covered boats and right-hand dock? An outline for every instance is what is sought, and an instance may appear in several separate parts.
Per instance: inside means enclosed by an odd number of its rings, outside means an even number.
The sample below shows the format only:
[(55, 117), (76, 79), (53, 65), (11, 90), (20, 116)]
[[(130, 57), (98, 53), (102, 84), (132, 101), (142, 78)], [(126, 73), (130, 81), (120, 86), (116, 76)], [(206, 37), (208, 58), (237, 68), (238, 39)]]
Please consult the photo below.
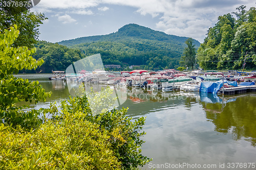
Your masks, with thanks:
[[(242, 76), (242, 74), (244, 76)], [(86, 71), (81, 70), (77, 75), (67, 74), (67, 81), (115, 85), (123, 87), (144, 88), (146, 90), (173, 90), (201, 91), (202, 85), (211, 86), (206, 92), (237, 94), (255, 91), (253, 86), (255, 72), (218, 72), (218, 71), (185, 71), (175, 69), (160, 71), (132, 70), (132, 71)], [(229, 80), (229, 81), (228, 81)], [(233, 81), (232, 81), (233, 80)], [(236, 80), (236, 81), (234, 81)], [(238, 83), (252, 82), (254, 84), (238, 86)], [(214, 87), (215, 86), (215, 87)], [(218, 86), (218, 87), (217, 87)], [(224, 90), (223, 90), (224, 88)]]

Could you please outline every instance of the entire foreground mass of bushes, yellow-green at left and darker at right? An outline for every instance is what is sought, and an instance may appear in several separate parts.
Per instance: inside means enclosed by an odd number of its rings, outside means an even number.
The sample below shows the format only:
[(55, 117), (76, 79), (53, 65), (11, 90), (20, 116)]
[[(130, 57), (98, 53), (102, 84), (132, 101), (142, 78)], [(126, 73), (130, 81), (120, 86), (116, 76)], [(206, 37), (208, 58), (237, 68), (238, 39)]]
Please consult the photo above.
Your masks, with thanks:
[[(150, 161), (141, 155), (139, 133), (144, 117), (125, 116), (127, 109), (91, 114), (87, 98), (51, 105), (45, 123), (27, 131), (0, 126), (0, 169), (131, 169)], [(47, 114), (54, 114), (48, 119)]]

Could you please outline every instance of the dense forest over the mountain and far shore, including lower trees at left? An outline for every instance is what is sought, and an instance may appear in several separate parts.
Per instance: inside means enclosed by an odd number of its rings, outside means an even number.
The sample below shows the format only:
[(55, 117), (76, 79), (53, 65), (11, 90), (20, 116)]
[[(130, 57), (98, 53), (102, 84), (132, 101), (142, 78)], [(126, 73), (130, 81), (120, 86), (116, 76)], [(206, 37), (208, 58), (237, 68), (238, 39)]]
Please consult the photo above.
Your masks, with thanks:
[[(39, 41), (35, 45), (37, 52), (34, 58), (43, 59), (45, 63), (36, 72), (65, 70), (72, 62), (98, 53), (103, 64), (121, 65), (122, 69), (130, 65), (140, 65), (139, 68), (150, 70), (177, 68), (186, 47), (186, 39), (129, 24), (109, 35), (59, 43)], [(194, 43), (198, 48), (200, 43), (196, 40)]]

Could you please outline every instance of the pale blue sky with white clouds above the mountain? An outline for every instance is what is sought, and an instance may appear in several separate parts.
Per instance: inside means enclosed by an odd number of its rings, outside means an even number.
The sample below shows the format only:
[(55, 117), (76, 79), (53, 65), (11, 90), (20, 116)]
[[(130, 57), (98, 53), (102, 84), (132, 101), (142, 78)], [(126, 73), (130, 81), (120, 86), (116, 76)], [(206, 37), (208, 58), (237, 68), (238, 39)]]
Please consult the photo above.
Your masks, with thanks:
[(256, 7), (253, 0), (41, 0), (32, 8), (49, 19), (40, 26), (40, 40), (58, 42), (105, 35), (129, 23), (203, 42), (218, 16)]

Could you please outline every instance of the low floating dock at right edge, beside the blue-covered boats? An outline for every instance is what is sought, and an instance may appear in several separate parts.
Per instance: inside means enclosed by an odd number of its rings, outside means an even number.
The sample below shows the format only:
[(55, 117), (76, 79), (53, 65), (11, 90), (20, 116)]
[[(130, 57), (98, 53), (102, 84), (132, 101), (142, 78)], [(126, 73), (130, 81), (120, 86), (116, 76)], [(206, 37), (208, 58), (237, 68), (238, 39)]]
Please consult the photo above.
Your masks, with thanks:
[[(222, 93), (222, 90), (223, 89), (221, 88), (219, 92)], [(251, 91), (256, 91), (256, 85), (224, 88), (224, 94), (240, 94)]]

